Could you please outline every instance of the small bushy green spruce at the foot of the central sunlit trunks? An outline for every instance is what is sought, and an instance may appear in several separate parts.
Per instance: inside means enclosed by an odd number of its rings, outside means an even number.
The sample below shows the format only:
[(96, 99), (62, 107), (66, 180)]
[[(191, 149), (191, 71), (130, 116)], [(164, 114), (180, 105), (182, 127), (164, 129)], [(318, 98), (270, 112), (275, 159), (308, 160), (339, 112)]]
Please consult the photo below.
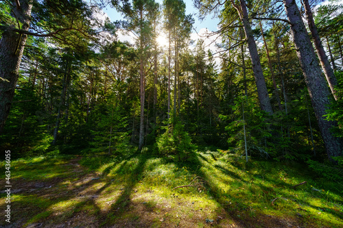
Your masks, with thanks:
[(184, 130), (184, 125), (174, 116), (171, 116), (166, 124), (167, 126), (163, 127), (165, 132), (156, 140), (158, 152), (161, 155), (168, 155), (176, 162), (191, 160), (196, 145), (191, 143), (191, 137)]

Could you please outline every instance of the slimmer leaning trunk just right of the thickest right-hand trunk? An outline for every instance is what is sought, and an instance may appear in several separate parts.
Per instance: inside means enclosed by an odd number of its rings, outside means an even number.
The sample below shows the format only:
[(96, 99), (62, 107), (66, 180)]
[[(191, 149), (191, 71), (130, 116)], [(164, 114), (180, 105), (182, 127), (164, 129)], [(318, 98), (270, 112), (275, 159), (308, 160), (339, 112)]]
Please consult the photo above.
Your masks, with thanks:
[(320, 64), (322, 65), (322, 70), (324, 72), (325, 77), (327, 78), (327, 82), (329, 83), (333, 97), (335, 97), (335, 100), (337, 100), (337, 92), (335, 91), (335, 86), (337, 86), (337, 79), (330, 66), (330, 62), (327, 58), (327, 54), (324, 51), (324, 47), (322, 46), (322, 41), (320, 40), (317, 27), (314, 24), (314, 17), (312, 15), (311, 7), (309, 5), (309, 0), (304, 0), (304, 5), (305, 13), (307, 15), (307, 24), (309, 25), (309, 29), (311, 30), (311, 36), (314, 40), (314, 46), (316, 47), (318, 58)]

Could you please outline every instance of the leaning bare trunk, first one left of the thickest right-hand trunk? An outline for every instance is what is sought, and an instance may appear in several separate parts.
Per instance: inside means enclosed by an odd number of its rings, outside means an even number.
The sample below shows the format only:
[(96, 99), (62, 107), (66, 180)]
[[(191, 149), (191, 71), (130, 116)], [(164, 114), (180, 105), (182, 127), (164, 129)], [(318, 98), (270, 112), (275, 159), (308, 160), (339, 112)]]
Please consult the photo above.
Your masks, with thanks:
[(265, 79), (263, 77), (263, 71), (261, 67), (261, 62), (259, 59), (259, 53), (257, 52), (257, 46), (255, 43), (254, 36), (252, 36), (252, 29), (250, 27), (248, 11), (246, 9), (246, 2), (244, 0), (240, 1), (240, 8), (236, 5), (233, 0), (233, 6), (236, 8), (239, 18), (243, 23), (244, 32), (246, 34), (246, 39), (248, 40), (248, 49), (250, 53), (250, 59), (252, 63), (252, 71), (254, 71), (255, 82), (257, 86), (257, 94), (259, 95), (259, 103), (261, 105), (261, 110), (268, 112), (269, 114), (273, 113), (272, 105), (268, 97), (267, 86), (265, 85)]

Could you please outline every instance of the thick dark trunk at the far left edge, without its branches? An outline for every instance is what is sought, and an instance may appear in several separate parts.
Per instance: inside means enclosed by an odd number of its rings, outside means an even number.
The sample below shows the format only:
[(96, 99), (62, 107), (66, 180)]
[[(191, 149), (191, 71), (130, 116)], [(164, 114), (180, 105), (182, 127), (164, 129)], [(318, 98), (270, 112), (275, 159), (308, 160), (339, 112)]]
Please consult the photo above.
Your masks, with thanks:
[[(19, 2), (20, 5), (16, 5), (16, 2)], [(32, 1), (21, 0), (12, 1), (12, 3), (14, 5), (12, 12), (23, 24), (20, 29), (28, 31), (31, 22)], [(17, 26), (16, 23), (13, 26)], [(0, 40), (0, 134), (10, 113), (26, 40), (26, 34), (17, 34), (6, 30), (3, 31)]]

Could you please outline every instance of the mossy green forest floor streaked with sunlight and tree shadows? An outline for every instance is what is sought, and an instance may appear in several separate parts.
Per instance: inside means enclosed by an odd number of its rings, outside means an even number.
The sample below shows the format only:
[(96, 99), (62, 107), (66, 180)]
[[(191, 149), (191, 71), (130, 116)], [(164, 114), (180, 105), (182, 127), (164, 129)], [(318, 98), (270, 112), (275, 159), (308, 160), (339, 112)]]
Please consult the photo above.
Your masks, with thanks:
[[(0, 166), (5, 186), (5, 166)], [(218, 151), (177, 163), (154, 155), (12, 161), (11, 223), (0, 227), (342, 227), (342, 183), (301, 164)], [(307, 183), (292, 188), (292, 186)], [(190, 186), (185, 186), (190, 185)], [(185, 186), (176, 188), (178, 186)], [(0, 208), (5, 203), (1, 190)]]

